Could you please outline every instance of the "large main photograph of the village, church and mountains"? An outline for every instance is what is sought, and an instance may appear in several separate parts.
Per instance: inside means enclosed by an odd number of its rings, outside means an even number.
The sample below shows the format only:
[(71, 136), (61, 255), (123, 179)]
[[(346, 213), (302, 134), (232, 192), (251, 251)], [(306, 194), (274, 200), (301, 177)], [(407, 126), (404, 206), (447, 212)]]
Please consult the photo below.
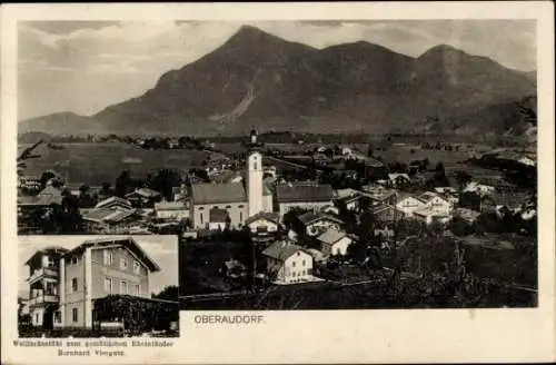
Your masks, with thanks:
[(177, 235), (182, 309), (536, 307), (536, 48), (518, 19), (20, 21), (19, 234)]

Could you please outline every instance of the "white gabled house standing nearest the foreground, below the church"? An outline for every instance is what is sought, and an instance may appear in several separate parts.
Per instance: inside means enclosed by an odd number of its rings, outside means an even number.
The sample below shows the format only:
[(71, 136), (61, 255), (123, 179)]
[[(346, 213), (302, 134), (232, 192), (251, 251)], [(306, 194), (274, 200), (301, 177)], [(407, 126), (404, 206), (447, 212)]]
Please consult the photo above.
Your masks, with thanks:
[(276, 241), (262, 251), (267, 273), (276, 284), (304, 283), (312, 279), (312, 257), (301, 247)]

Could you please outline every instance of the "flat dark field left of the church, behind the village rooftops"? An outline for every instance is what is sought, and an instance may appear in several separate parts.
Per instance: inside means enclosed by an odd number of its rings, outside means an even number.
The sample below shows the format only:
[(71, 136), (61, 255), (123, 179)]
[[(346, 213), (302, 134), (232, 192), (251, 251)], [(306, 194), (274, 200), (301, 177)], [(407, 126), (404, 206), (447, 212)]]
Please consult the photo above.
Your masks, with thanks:
[(123, 170), (129, 170), (133, 178), (143, 178), (162, 168), (185, 171), (201, 167), (209, 155), (199, 150), (145, 150), (120, 142), (61, 146), (64, 148), (59, 150), (39, 146), (33, 152), (41, 157), (28, 160), (24, 174), (40, 176), (46, 170), (54, 170), (71, 184), (113, 185)]

